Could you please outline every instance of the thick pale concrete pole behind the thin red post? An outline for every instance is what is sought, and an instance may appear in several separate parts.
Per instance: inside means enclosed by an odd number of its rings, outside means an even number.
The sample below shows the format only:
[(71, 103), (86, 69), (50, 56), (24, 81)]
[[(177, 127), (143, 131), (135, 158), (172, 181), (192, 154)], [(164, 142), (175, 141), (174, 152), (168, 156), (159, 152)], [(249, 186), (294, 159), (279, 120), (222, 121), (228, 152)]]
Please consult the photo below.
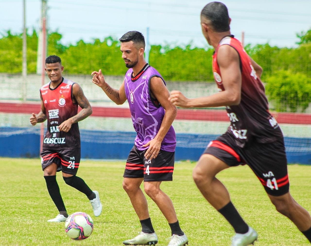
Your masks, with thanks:
[[(47, 0), (42, 0), (41, 5), (41, 30), (39, 31), (38, 38), (38, 52), (37, 52), (37, 74), (42, 72), (42, 59), (46, 57), (46, 11), (47, 11)], [(43, 58), (42, 58), (43, 57)]]

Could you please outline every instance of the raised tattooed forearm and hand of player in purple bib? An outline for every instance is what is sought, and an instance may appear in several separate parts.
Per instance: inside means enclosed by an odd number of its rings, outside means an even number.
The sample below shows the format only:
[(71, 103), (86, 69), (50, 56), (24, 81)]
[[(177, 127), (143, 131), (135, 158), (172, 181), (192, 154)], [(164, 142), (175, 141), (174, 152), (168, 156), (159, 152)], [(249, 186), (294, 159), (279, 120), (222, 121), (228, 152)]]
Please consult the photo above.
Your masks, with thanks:
[(126, 101), (126, 95), (124, 90), (124, 81), (120, 86), (120, 89), (114, 89), (109, 84), (106, 83), (104, 75), (101, 72), (101, 69), (97, 72), (92, 72), (93, 76), (92, 82), (98, 85), (104, 93), (116, 104), (120, 105)]

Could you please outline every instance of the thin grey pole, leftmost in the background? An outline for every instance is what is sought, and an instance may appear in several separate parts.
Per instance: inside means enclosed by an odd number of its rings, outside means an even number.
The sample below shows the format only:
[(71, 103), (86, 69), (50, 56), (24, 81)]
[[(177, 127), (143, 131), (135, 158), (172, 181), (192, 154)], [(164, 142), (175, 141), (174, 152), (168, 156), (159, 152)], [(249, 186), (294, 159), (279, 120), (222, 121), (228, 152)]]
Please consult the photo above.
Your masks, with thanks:
[(27, 30), (26, 30), (26, 0), (23, 0), (23, 62), (22, 62), (22, 100), (27, 99)]

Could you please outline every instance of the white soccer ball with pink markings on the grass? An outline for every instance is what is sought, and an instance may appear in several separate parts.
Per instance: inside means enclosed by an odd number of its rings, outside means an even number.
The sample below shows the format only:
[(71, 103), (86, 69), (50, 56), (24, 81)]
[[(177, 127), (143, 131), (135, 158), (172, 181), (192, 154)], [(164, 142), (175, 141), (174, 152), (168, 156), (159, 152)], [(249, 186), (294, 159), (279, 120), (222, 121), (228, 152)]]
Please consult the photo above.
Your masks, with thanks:
[(65, 222), (65, 232), (68, 237), (74, 240), (86, 239), (93, 231), (94, 223), (92, 218), (83, 212), (75, 212), (68, 216)]

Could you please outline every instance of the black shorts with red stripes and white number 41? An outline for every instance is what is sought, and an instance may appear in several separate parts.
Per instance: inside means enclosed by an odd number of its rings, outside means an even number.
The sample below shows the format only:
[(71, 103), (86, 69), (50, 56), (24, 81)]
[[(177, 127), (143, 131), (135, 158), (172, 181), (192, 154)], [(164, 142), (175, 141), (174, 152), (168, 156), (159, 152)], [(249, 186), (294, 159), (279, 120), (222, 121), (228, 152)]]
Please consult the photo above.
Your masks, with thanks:
[(272, 143), (253, 141), (241, 148), (235, 144), (234, 136), (226, 132), (211, 141), (204, 154), (211, 154), (229, 166), (247, 164), (270, 195), (281, 196), (289, 191), (283, 138)]

